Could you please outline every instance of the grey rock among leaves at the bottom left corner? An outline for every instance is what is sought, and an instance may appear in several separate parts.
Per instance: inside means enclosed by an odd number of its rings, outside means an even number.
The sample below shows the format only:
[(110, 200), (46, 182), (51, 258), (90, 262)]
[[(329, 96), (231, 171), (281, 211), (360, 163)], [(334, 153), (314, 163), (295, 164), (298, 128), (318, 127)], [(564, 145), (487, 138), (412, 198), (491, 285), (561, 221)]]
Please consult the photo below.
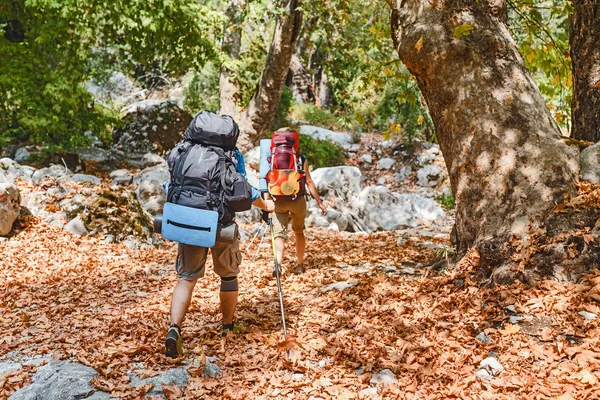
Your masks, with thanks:
[(85, 365), (69, 361), (52, 360), (39, 368), (33, 383), (16, 391), (11, 400), (109, 400), (110, 394), (91, 386), (98, 373)]

